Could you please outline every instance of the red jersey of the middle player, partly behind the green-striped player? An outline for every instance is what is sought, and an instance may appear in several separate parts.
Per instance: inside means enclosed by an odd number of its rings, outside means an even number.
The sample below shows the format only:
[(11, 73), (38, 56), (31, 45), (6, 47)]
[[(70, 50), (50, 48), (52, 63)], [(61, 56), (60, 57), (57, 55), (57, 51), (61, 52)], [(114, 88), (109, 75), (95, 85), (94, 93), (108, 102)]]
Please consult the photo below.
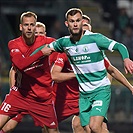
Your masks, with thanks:
[[(62, 67), (62, 72), (70, 72), (72, 68), (65, 53), (59, 53), (55, 65)], [(58, 83), (54, 87), (53, 95), (60, 100), (77, 100), (79, 99), (78, 81), (76, 78)]]

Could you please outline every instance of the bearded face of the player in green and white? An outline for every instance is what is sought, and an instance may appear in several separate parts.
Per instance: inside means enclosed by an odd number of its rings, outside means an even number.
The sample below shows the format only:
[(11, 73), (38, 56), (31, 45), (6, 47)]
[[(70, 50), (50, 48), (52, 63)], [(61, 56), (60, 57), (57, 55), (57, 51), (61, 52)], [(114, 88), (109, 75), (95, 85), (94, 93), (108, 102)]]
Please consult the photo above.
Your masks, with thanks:
[(78, 35), (82, 32), (82, 15), (80, 13), (74, 16), (68, 15), (66, 23), (72, 35)]

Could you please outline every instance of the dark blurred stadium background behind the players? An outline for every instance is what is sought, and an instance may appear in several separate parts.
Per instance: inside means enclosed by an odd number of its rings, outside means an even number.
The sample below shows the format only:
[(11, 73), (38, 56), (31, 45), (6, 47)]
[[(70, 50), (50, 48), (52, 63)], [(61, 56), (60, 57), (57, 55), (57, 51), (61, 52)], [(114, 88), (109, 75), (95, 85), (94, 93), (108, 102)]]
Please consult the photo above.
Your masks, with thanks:
[[(92, 20), (92, 31), (124, 43), (133, 59), (133, 0), (0, 0), (0, 101), (9, 92), (8, 73), (11, 67), (8, 41), (20, 35), (19, 17), (33, 11), (38, 21), (46, 25), (47, 36), (67, 35), (64, 14), (71, 7), (79, 7)], [(119, 53), (106, 53), (111, 63), (124, 75)], [(133, 76), (125, 75), (133, 84)], [(123, 85), (113, 80), (112, 99), (108, 111), (110, 133), (133, 133), (133, 96)], [(72, 133), (71, 118), (60, 124), (61, 133)], [(14, 133), (41, 133), (32, 119), (26, 116)]]

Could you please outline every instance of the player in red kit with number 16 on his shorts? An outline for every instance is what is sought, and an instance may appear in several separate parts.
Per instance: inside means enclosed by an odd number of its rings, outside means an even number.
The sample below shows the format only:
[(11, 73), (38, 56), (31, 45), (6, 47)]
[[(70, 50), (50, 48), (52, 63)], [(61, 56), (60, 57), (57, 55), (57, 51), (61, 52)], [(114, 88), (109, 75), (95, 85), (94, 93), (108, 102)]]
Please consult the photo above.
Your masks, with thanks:
[(33, 12), (23, 13), (20, 17), (22, 36), (8, 43), (16, 82), (0, 107), (0, 129), (10, 118), (22, 113), (30, 114), (36, 126), (46, 127), (49, 133), (57, 133), (48, 63), (52, 50), (46, 45), (30, 56), (37, 48), (54, 39), (35, 36), (36, 20)]

